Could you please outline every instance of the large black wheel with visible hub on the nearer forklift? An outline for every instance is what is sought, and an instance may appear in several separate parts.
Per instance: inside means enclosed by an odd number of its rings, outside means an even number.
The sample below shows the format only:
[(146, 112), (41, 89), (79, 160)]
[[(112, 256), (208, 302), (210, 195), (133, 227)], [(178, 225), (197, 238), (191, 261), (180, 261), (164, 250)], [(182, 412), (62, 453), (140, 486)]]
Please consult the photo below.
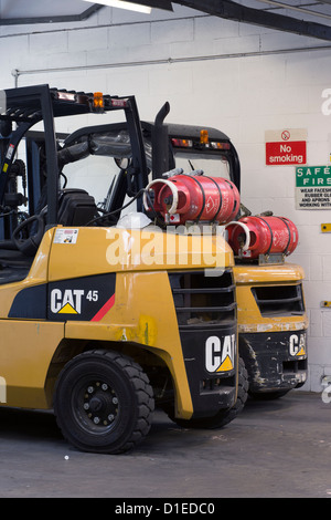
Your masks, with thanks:
[(74, 357), (56, 383), (54, 413), (64, 438), (82, 451), (119, 454), (147, 436), (154, 409), (141, 366), (118, 352)]

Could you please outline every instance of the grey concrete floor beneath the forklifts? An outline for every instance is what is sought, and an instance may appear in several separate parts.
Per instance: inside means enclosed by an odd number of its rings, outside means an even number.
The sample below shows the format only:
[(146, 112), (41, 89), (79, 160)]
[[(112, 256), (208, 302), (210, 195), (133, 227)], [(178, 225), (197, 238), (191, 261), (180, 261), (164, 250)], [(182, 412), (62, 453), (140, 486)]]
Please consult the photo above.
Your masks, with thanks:
[(220, 430), (157, 412), (145, 443), (120, 456), (71, 448), (50, 413), (3, 408), (0, 425), (0, 498), (331, 497), (331, 403), (320, 394), (249, 401)]

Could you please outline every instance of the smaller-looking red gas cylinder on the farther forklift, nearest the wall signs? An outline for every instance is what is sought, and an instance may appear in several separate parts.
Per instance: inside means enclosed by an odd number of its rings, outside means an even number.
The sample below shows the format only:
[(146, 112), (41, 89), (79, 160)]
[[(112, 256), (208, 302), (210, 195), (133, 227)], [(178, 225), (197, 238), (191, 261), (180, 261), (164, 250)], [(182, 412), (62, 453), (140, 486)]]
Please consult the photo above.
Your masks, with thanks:
[[(235, 254), (239, 250), (243, 257), (258, 258), (259, 254), (284, 253), (290, 254), (298, 246), (299, 233), (295, 223), (285, 217), (243, 217), (227, 226), (228, 243)], [(249, 233), (249, 245), (243, 249)]]

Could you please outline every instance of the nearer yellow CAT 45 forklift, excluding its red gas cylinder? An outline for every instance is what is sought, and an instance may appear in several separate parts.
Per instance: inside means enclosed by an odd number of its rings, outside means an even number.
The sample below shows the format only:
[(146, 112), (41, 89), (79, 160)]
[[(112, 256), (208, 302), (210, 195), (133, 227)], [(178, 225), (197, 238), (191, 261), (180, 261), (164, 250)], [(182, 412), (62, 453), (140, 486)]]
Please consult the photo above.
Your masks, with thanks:
[[(107, 124), (55, 128), (93, 115)], [(143, 211), (150, 168), (135, 97), (6, 90), (0, 134), (0, 405), (54, 408), (74, 447), (108, 454), (146, 437), (156, 405), (185, 426), (231, 422), (246, 399), (233, 251), (215, 233), (175, 233), (162, 254), (164, 230)], [(96, 187), (115, 165), (102, 204), (67, 184), (77, 165), (73, 183), (78, 171)]]

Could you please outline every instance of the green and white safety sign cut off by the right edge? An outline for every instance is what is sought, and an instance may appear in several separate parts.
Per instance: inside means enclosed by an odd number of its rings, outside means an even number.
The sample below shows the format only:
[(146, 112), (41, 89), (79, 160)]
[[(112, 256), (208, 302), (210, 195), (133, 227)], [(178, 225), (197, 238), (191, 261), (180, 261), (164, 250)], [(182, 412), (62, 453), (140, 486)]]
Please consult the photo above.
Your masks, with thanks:
[(296, 208), (331, 208), (331, 166), (296, 168)]

